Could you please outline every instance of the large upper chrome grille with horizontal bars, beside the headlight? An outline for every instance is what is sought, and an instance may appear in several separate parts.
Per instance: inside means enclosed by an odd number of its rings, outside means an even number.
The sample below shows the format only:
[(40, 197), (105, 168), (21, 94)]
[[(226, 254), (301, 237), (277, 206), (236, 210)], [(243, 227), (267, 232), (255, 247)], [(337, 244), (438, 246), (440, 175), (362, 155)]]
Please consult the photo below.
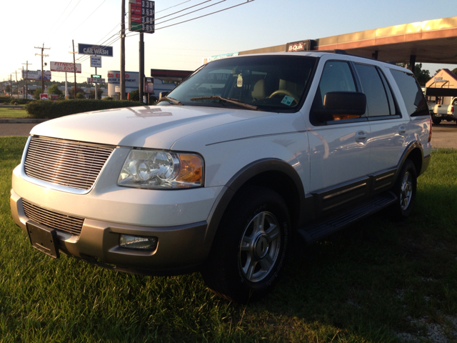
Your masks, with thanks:
[(76, 189), (90, 189), (112, 148), (79, 141), (32, 137), (25, 172), (29, 177)]

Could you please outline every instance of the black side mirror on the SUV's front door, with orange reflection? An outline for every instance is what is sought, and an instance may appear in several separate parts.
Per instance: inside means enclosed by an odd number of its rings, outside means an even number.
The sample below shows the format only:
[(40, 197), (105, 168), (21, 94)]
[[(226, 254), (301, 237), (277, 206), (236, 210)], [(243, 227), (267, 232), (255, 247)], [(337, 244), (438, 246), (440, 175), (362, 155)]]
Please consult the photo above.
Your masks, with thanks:
[[(361, 116), (366, 111), (366, 95), (356, 91), (330, 91), (323, 96), (323, 111), (335, 119)], [(344, 118), (338, 118), (343, 116)]]

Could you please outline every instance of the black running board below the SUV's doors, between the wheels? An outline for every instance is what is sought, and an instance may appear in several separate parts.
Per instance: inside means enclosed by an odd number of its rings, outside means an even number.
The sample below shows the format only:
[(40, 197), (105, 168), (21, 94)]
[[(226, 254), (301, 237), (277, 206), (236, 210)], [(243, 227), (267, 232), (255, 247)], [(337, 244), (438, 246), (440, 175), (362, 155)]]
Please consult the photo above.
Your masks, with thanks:
[(398, 198), (392, 192), (379, 194), (376, 197), (363, 202), (354, 209), (336, 214), (330, 218), (324, 218), (317, 223), (313, 223), (308, 227), (298, 229), (301, 237), (306, 240), (306, 243), (311, 244), (319, 239), (333, 234), (334, 232), (347, 227), (349, 224), (356, 222), (363, 217), (367, 217), (375, 212), (381, 211), (396, 202)]

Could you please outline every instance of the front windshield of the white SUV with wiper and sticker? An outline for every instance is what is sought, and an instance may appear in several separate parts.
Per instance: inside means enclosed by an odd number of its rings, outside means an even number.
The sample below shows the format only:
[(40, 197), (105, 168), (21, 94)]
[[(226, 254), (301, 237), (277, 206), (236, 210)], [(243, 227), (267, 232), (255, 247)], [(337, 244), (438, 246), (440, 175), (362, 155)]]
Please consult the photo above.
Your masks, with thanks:
[(220, 59), (204, 66), (167, 96), (188, 106), (290, 110), (300, 103), (316, 61), (293, 55)]

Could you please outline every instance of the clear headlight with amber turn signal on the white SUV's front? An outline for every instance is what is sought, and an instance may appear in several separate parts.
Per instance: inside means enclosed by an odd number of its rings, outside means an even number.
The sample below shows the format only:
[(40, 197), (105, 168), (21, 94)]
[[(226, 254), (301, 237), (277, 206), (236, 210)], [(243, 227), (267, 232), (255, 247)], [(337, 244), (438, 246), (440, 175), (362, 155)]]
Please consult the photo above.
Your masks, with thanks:
[(203, 186), (204, 162), (196, 154), (134, 149), (127, 156), (117, 184), (139, 188)]

